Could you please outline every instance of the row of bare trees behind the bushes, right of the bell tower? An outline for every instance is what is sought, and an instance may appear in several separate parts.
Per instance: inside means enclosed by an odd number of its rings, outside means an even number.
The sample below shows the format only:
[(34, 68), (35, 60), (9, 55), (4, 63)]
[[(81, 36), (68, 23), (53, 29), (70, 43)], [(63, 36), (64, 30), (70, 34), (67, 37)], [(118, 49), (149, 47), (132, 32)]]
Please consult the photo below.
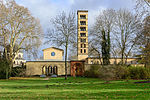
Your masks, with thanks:
[(121, 58), (122, 65), (129, 57), (138, 57), (139, 63), (149, 66), (150, 11), (139, 10), (103, 10), (90, 30), (90, 56), (98, 55), (103, 65), (110, 64), (110, 57)]

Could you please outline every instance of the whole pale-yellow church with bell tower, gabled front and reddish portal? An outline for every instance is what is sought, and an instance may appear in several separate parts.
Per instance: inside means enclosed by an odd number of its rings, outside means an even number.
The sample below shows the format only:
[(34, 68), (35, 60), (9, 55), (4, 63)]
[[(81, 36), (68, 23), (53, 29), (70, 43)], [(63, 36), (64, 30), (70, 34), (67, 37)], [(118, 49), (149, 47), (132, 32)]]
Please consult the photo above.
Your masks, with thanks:
[[(92, 64), (101, 64), (100, 59), (88, 57), (88, 11), (77, 11), (77, 59), (67, 61), (67, 74), (71, 76), (83, 76)], [(26, 75), (65, 75), (64, 50), (50, 47), (43, 50), (43, 60), (27, 61)], [(119, 63), (121, 59), (110, 59), (110, 63)], [(133, 58), (129, 63), (136, 63)]]

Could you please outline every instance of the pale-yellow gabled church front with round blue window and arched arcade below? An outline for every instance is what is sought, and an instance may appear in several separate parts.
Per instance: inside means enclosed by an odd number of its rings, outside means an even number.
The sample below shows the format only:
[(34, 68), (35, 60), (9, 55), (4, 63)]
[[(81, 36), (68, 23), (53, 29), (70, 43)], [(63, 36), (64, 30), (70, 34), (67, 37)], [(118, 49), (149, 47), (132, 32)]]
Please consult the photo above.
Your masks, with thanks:
[[(56, 47), (43, 49), (43, 59), (27, 61), (26, 75), (65, 75), (64, 50)], [(67, 61), (68, 74), (70, 75), (70, 62)]]

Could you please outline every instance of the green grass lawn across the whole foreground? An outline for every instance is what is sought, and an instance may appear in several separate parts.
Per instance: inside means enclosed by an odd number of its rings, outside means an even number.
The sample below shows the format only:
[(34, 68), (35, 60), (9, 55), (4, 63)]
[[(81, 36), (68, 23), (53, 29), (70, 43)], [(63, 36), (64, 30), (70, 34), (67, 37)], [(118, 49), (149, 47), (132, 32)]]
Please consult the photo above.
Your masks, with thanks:
[[(139, 81), (139, 80), (138, 80)], [(53, 99), (126, 99), (150, 100), (150, 83), (137, 80), (112, 81), (104, 84), (95, 78), (31, 78), (0, 80), (0, 100), (53, 100)]]

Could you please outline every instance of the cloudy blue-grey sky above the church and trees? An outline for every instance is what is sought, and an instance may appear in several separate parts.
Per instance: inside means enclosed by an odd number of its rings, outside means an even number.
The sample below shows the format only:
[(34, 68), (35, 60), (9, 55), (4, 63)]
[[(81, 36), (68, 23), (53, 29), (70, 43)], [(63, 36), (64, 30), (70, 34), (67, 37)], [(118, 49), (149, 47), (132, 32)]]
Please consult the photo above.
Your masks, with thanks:
[[(89, 27), (93, 25), (96, 16), (105, 9), (126, 8), (132, 10), (135, 0), (15, 0), (17, 4), (27, 7), (32, 16), (40, 20), (43, 31), (51, 27), (50, 20), (62, 11), (89, 11)], [(51, 46), (42, 45), (41, 50)], [(40, 53), (42, 55), (42, 53)]]

